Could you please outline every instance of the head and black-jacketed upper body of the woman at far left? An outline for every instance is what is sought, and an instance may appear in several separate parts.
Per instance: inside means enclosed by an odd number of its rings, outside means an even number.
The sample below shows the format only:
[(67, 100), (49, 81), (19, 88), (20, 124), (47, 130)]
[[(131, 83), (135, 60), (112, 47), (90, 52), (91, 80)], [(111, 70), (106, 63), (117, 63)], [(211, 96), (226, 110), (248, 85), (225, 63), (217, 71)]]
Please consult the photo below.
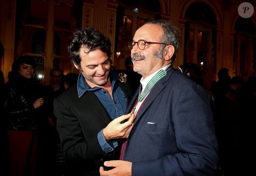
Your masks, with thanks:
[(35, 68), (36, 62), (30, 56), (20, 56), (12, 64), (4, 101), (9, 130), (33, 130), (41, 121), (37, 115), (44, 99), (41, 85), (34, 79)]

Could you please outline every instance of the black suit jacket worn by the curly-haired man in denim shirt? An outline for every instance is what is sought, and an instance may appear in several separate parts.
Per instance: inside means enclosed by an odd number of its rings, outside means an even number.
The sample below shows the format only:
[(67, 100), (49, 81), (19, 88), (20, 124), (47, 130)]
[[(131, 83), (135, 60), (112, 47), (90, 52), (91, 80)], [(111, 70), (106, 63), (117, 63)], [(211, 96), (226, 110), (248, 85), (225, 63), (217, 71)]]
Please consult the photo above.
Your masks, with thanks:
[[(129, 102), (132, 94), (128, 85), (118, 84)], [(75, 84), (54, 100), (54, 114), (61, 150), (68, 163), (73, 163), (74, 172), (99, 175), (99, 167), (105, 160), (117, 159), (114, 152), (106, 155), (98, 142), (98, 132), (111, 118), (93, 92), (87, 91), (79, 98)]]

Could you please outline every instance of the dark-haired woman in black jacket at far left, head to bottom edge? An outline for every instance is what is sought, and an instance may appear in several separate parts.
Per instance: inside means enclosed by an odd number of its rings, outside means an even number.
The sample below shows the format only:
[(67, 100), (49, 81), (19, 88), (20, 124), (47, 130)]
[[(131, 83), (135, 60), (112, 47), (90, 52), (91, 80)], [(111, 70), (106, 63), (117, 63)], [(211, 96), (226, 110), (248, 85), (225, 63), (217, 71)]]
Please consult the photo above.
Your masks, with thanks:
[(38, 129), (43, 116), (42, 86), (35, 81), (36, 61), (20, 56), (12, 64), (4, 88), (4, 123), (8, 130), (10, 175), (34, 175), (38, 161)]

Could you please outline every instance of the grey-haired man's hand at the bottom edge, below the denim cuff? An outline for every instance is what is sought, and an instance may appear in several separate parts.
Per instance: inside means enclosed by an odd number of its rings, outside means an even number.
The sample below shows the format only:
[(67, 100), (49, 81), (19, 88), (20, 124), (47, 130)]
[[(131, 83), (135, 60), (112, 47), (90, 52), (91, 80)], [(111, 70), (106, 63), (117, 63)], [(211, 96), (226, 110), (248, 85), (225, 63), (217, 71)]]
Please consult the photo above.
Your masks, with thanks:
[(114, 169), (105, 171), (103, 167), (100, 167), (101, 176), (132, 176), (132, 162), (113, 160), (105, 161), (106, 167), (114, 167)]

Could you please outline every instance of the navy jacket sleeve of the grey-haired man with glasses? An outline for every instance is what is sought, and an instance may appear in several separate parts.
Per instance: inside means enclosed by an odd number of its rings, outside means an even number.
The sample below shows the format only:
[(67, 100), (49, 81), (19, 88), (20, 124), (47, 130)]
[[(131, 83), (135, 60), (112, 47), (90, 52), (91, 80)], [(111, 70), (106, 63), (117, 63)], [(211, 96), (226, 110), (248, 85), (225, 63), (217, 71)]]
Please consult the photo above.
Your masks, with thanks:
[[(133, 162), (132, 176), (214, 176), (218, 169), (218, 144), (205, 90), (196, 84), (185, 85), (180, 90), (169, 91), (162, 102), (164, 106), (158, 109), (162, 108), (159, 111), (170, 118), (169, 128), (174, 129), (174, 135), (167, 132), (162, 135), (172, 136), (176, 143), (166, 139), (162, 146), (166, 154), (162, 157)], [(168, 153), (165, 149), (168, 146), (176, 147), (177, 152)]]

